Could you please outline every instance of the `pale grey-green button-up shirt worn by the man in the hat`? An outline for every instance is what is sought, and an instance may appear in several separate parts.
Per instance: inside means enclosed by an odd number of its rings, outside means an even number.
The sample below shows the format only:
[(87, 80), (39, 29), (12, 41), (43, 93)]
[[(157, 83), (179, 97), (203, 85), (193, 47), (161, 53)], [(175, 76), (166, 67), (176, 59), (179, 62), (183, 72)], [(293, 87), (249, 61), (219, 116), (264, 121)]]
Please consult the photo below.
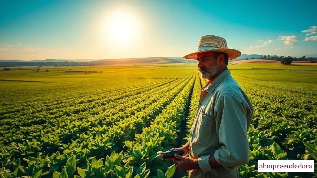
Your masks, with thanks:
[[(200, 94), (189, 140), (190, 157), (198, 159), (200, 169), (191, 170), (189, 178), (239, 177), (237, 167), (249, 161), (247, 130), (252, 117), (253, 106), (230, 69), (208, 81)], [(210, 167), (212, 155), (223, 167)]]

